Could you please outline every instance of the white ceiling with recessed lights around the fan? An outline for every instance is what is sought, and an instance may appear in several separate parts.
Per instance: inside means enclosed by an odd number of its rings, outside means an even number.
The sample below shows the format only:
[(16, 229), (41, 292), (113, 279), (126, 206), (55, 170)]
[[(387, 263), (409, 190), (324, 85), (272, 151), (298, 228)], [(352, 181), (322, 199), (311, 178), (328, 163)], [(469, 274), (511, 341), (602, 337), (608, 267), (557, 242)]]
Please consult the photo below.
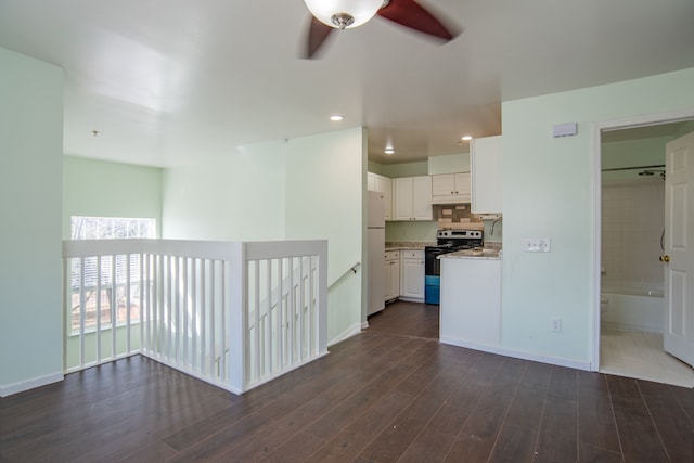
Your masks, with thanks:
[(0, 47), (65, 69), (65, 153), (164, 167), (360, 125), (376, 162), (461, 153), (501, 101), (694, 67), (692, 0), (421, 3), (463, 34), (376, 17), (307, 61), (301, 0), (0, 0)]

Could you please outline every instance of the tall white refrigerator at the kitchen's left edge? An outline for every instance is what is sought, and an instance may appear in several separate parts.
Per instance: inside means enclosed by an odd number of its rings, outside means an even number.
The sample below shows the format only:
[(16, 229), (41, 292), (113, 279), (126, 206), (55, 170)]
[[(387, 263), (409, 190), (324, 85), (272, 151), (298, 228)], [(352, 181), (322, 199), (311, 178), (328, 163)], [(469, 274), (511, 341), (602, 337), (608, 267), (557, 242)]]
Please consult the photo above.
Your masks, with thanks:
[(386, 247), (386, 204), (383, 193), (368, 192), (367, 197), (367, 261), (369, 278), (370, 316), (385, 308), (385, 247)]

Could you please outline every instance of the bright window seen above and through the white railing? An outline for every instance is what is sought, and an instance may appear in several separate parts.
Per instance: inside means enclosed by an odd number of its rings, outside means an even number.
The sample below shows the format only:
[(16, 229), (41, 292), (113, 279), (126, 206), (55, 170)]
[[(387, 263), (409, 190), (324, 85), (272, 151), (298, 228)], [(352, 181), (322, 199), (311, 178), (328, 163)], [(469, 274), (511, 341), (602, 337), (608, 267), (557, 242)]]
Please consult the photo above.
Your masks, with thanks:
[[(119, 240), (156, 237), (156, 220), (151, 218), (70, 218), (73, 240)], [(83, 269), (81, 268), (83, 266)], [(129, 267), (129, 269), (128, 269)], [(128, 284), (129, 278), (129, 284)], [(70, 262), (73, 332), (80, 325), (80, 286), (85, 290), (85, 330), (107, 327), (140, 319), (140, 256), (116, 255), (75, 258)], [(128, 297), (128, 288), (130, 294)], [(129, 307), (128, 307), (129, 306)], [(100, 320), (99, 320), (99, 316)]]

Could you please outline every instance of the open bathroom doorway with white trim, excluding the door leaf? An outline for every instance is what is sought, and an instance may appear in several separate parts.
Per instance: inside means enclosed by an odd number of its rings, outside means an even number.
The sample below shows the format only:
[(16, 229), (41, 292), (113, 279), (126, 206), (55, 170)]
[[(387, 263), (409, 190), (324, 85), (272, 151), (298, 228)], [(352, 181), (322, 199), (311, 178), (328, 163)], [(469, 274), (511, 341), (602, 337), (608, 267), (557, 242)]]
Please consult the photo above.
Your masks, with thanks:
[[(596, 128), (594, 370), (694, 385), (663, 348), (665, 143), (694, 131), (694, 112)], [(601, 291), (602, 290), (602, 291)]]

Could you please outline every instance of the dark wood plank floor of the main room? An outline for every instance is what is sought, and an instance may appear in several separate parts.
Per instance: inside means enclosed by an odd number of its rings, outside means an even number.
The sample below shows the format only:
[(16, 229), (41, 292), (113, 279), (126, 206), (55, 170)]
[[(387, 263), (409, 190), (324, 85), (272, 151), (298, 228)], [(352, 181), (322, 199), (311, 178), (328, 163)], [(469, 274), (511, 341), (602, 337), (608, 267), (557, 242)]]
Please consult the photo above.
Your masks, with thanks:
[(0, 399), (2, 462), (686, 462), (694, 391), (441, 345), (397, 303), (242, 397), (133, 357)]

